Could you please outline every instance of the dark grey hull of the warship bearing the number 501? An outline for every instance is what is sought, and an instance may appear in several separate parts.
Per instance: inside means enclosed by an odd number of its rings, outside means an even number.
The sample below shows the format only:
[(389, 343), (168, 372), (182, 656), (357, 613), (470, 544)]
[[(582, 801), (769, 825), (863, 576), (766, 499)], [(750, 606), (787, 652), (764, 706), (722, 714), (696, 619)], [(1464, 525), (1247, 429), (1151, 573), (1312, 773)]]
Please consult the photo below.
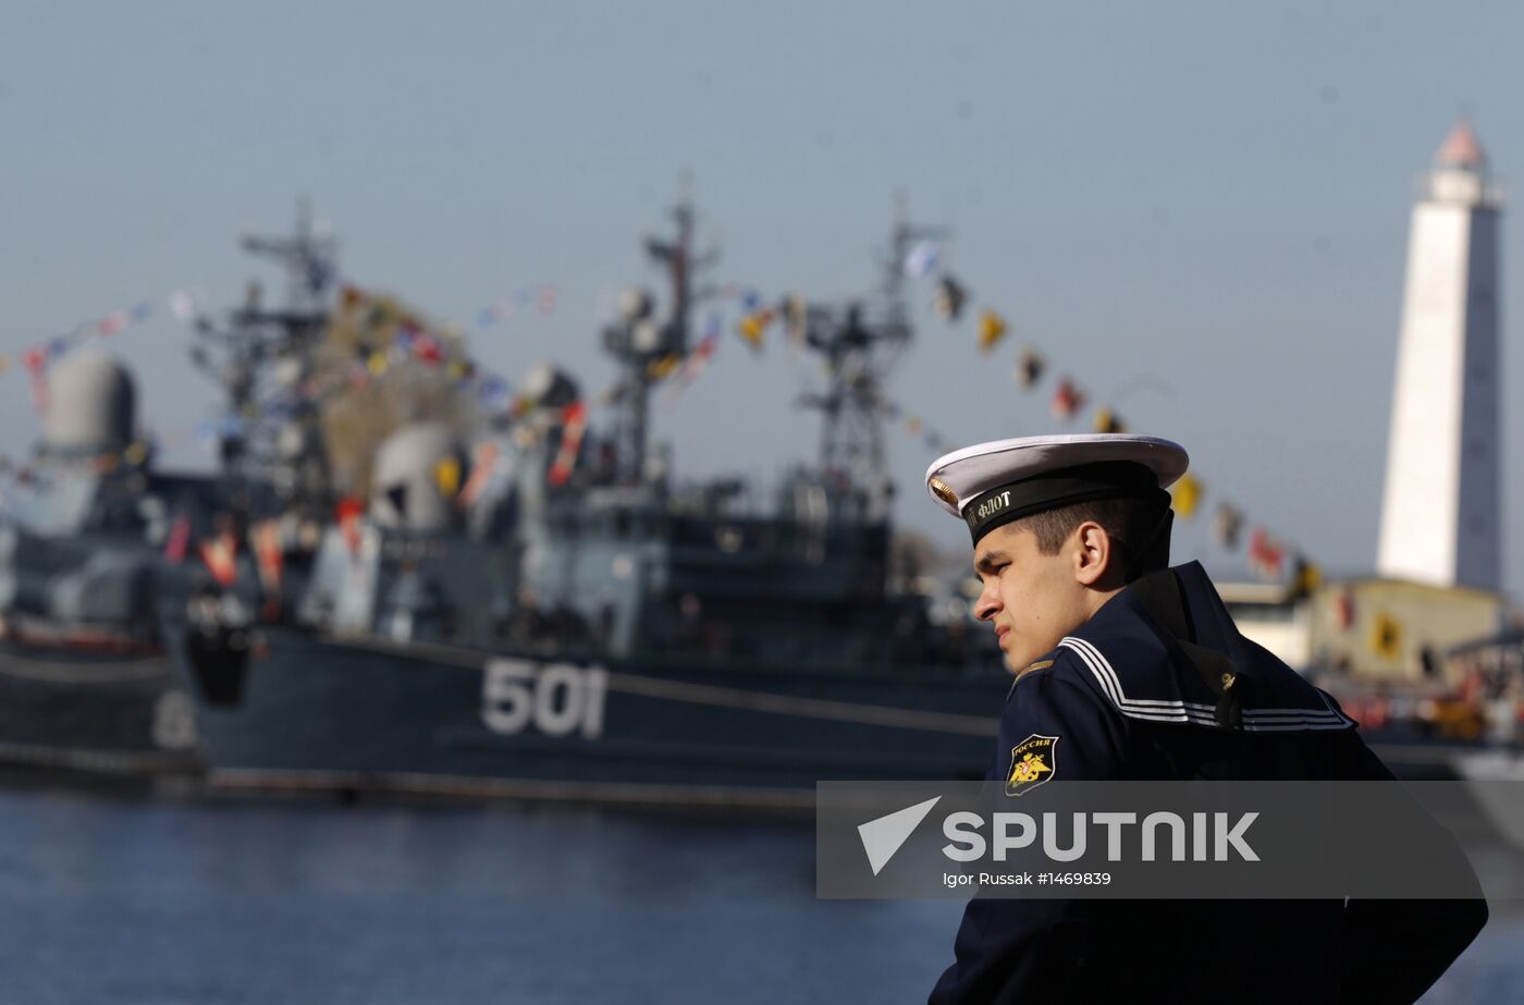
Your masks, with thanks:
[(983, 778), (1010, 685), (261, 634), (241, 668), (181, 660), (213, 784), (808, 807), (820, 779)]

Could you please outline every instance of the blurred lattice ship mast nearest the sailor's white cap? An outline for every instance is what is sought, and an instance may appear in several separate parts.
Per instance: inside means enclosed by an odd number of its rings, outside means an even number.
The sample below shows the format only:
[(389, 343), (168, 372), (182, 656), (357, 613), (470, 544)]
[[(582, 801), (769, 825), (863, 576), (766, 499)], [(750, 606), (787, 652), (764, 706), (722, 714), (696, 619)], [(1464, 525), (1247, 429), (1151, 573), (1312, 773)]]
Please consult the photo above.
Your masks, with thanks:
[(910, 343), (910, 308), (905, 303), (905, 259), (920, 241), (948, 236), (946, 227), (910, 224), (896, 209), (887, 258), (881, 261), (878, 296), (853, 302), (844, 311), (806, 308), (805, 345), (824, 357), (828, 387), (805, 395), (800, 404), (823, 415), (820, 464), (832, 480), (841, 517), (888, 517), (892, 483), (885, 474), (884, 381)]

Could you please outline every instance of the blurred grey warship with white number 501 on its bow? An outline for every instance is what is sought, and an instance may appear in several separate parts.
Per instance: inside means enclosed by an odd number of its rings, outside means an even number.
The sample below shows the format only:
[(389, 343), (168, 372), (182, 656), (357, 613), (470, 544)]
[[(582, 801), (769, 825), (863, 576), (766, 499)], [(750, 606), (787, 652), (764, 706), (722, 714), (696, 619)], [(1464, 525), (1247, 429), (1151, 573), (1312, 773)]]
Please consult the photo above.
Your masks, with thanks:
[[(539, 366), (485, 450), (427, 413), (392, 425), (363, 500), (314, 462), (322, 407), (267, 430), (300, 445), (262, 462), (280, 509), (226, 519), (309, 528), (280, 537), (300, 573), (271, 598), (239, 557), (221, 581), (160, 592), (213, 785), (808, 807), (818, 779), (985, 775), (998, 651), (890, 569), (882, 389), (911, 339), (902, 262), (927, 230), (896, 223), (870, 297), (780, 305), (828, 386), (803, 401), (817, 462), (764, 503), (738, 479), (680, 480), (649, 442), (652, 390), (700, 348), (692, 314), (713, 296), (686, 198), (674, 220), (645, 247), (664, 310), (631, 291), (602, 331), (620, 371), (608, 430), (572, 375)], [(282, 253), (299, 282), (311, 261)], [(314, 371), (319, 311), (253, 323), (274, 334), (229, 342), (233, 371)]]

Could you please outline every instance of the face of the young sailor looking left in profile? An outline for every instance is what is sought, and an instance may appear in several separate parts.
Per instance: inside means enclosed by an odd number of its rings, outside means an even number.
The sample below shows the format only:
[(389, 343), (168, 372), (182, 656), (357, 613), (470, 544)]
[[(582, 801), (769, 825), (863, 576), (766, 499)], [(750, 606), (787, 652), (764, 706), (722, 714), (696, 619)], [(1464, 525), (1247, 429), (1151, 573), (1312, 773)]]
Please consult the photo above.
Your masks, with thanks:
[(1067, 543), (1058, 555), (1044, 555), (1020, 523), (995, 528), (974, 549), (974, 570), (985, 584), (974, 615), (994, 625), (1010, 673), (1056, 648), (1090, 618), (1068, 552)]

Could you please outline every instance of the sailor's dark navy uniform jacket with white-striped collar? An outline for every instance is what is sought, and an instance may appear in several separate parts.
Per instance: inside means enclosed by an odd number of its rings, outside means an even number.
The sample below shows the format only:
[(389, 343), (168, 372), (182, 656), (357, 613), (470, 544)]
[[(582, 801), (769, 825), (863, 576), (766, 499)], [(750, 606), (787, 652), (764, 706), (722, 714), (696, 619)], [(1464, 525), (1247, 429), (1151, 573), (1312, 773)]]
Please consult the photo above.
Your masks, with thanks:
[[(1224, 686), (1227, 685), (1227, 686)], [(1233, 625), (1198, 563), (1111, 598), (1015, 682), (991, 778), (1033, 734), (1064, 779), (1391, 779), (1355, 721)], [(1009, 755), (1007, 755), (1009, 758)], [(969, 901), (933, 1005), (1413, 1002), (1484, 901)]]

